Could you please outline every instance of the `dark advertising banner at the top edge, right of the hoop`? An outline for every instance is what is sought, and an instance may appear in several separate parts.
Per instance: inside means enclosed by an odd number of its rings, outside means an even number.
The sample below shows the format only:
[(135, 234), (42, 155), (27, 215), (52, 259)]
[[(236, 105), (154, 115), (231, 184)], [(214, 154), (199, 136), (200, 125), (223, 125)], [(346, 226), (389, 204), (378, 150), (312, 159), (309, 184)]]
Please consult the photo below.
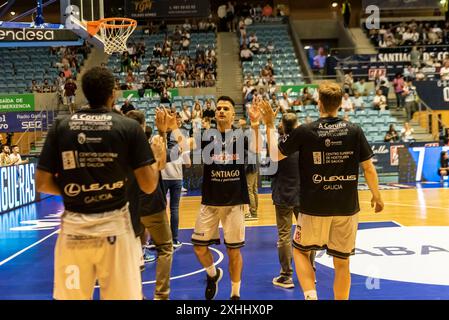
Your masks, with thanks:
[(206, 18), (210, 14), (208, 0), (127, 0), (127, 16), (145, 18)]

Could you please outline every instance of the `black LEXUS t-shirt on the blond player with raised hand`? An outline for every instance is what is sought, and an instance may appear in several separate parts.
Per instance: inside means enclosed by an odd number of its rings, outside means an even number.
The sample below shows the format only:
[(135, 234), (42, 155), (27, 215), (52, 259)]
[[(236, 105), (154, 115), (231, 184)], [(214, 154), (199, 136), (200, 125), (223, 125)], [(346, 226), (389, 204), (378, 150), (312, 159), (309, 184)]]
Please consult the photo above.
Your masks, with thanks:
[(279, 150), (286, 156), (299, 151), (301, 213), (350, 216), (360, 211), (359, 164), (373, 157), (360, 127), (321, 118), (296, 128)]

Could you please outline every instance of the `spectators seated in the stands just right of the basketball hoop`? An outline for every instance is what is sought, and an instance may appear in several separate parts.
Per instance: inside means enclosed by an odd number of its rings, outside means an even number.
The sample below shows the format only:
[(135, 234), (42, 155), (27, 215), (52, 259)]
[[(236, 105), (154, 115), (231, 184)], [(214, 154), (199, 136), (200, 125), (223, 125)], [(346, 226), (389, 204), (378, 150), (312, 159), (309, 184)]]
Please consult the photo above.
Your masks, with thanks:
[[(215, 86), (217, 57), (214, 47), (198, 45), (195, 57), (185, 54), (190, 50), (192, 26), (186, 20), (184, 25), (176, 26), (172, 33), (166, 33), (162, 43), (146, 48), (145, 43), (131, 43), (128, 51), (121, 55), (120, 69), (115, 72), (126, 73), (124, 81), (118, 80), (122, 90), (153, 89), (162, 93), (171, 88), (199, 88)], [(142, 70), (143, 58), (152, 59), (146, 70)], [(163, 63), (162, 60), (166, 60)], [(140, 75), (144, 72), (144, 76)]]

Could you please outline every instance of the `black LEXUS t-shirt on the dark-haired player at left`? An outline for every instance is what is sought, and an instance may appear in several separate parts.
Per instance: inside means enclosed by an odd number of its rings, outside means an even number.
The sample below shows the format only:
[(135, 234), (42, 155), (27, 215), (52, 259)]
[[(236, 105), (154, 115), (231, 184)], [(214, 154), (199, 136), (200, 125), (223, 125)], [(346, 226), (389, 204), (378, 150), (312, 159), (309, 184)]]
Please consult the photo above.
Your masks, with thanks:
[(89, 214), (123, 207), (127, 174), (152, 163), (153, 153), (135, 120), (87, 109), (56, 120), (38, 168), (57, 175), (67, 210)]

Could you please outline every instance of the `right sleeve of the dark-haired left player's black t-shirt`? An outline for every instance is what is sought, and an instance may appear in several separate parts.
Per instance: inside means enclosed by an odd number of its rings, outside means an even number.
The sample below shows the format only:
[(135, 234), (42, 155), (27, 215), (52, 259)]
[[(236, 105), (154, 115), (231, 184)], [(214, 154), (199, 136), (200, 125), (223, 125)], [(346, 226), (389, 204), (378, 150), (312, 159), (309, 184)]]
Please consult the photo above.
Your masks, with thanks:
[(136, 121), (135, 125), (130, 128), (129, 141), (129, 165), (133, 170), (139, 169), (146, 165), (156, 162), (150, 144), (147, 141), (145, 133)]

